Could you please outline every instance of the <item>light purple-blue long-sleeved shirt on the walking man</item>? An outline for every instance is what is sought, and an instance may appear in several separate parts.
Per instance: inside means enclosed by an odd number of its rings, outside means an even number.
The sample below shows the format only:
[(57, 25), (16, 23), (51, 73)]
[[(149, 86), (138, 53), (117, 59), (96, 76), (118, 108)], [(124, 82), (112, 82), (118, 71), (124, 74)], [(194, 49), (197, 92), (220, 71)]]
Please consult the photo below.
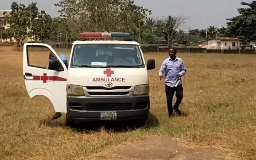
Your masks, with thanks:
[[(183, 60), (176, 57), (172, 60), (170, 57), (166, 58), (158, 71), (158, 75), (161, 76), (165, 73), (165, 84), (170, 87), (177, 87), (182, 84), (181, 77), (185, 75), (186, 69)], [(179, 77), (175, 75), (179, 74)]]

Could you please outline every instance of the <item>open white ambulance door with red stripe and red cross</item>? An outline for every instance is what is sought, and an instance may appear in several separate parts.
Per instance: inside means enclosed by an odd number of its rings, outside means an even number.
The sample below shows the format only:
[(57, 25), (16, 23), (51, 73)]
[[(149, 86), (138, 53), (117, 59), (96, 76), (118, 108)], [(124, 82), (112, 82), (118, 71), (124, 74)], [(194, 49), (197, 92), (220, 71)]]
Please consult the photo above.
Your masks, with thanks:
[[(55, 60), (49, 60), (50, 52), (54, 54)], [(41, 62), (44, 64), (40, 64)], [(55, 112), (60, 116), (61, 113), (67, 112), (68, 69), (52, 47), (44, 43), (25, 43), (23, 46), (23, 76), (30, 98), (37, 95), (45, 96), (52, 102)]]

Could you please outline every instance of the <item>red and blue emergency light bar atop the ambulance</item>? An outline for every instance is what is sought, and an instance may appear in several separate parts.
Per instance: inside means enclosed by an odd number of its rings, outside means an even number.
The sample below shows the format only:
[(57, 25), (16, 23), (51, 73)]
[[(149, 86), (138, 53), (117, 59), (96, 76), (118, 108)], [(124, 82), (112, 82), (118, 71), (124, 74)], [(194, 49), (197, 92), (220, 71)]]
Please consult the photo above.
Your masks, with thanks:
[(79, 34), (82, 38), (130, 38), (132, 33), (126, 32), (83, 32)]

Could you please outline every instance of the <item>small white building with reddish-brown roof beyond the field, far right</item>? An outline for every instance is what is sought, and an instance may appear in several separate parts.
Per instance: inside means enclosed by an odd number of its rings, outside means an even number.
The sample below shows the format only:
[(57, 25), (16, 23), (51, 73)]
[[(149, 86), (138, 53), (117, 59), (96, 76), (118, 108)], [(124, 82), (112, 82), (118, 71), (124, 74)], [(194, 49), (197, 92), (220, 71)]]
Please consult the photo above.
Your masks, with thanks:
[(199, 41), (202, 48), (206, 49), (237, 49), (240, 47), (240, 39), (234, 37), (214, 37)]

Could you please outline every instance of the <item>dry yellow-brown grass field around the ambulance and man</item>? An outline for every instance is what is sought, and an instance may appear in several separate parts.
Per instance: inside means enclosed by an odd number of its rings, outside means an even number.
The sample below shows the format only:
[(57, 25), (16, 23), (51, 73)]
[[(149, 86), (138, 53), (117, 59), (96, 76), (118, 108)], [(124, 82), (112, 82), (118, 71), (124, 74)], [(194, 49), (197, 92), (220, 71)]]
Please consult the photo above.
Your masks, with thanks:
[[(69, 53), (65, 53), (69, 54)], [(183, 77), (185, 114), (167, 116), (164, 81), (157, 71), (167, 53), (149, 71), (151, 116), (144, 128), (91, 131), (65, 126), (65, 115), (44, 97), (28, 97), (22, 75), (22, 52), (0, 52), (0, 159), (86, 159), (121, 142), (147, 136), (171, 136), (193, 145), (215, 146), (234, 159), (256, 159), (256, 55), (178, 53), (187, 69)], [(35, 58), (37, 58), (35, 56)], [(37, 61), (41, 61), (41, 57)], [(47, 61), (47, 56), (45, 59)], [(174, 99), (175, 101), (176, 99)], [(125, 129), (125, 128), (124, 128)]]

